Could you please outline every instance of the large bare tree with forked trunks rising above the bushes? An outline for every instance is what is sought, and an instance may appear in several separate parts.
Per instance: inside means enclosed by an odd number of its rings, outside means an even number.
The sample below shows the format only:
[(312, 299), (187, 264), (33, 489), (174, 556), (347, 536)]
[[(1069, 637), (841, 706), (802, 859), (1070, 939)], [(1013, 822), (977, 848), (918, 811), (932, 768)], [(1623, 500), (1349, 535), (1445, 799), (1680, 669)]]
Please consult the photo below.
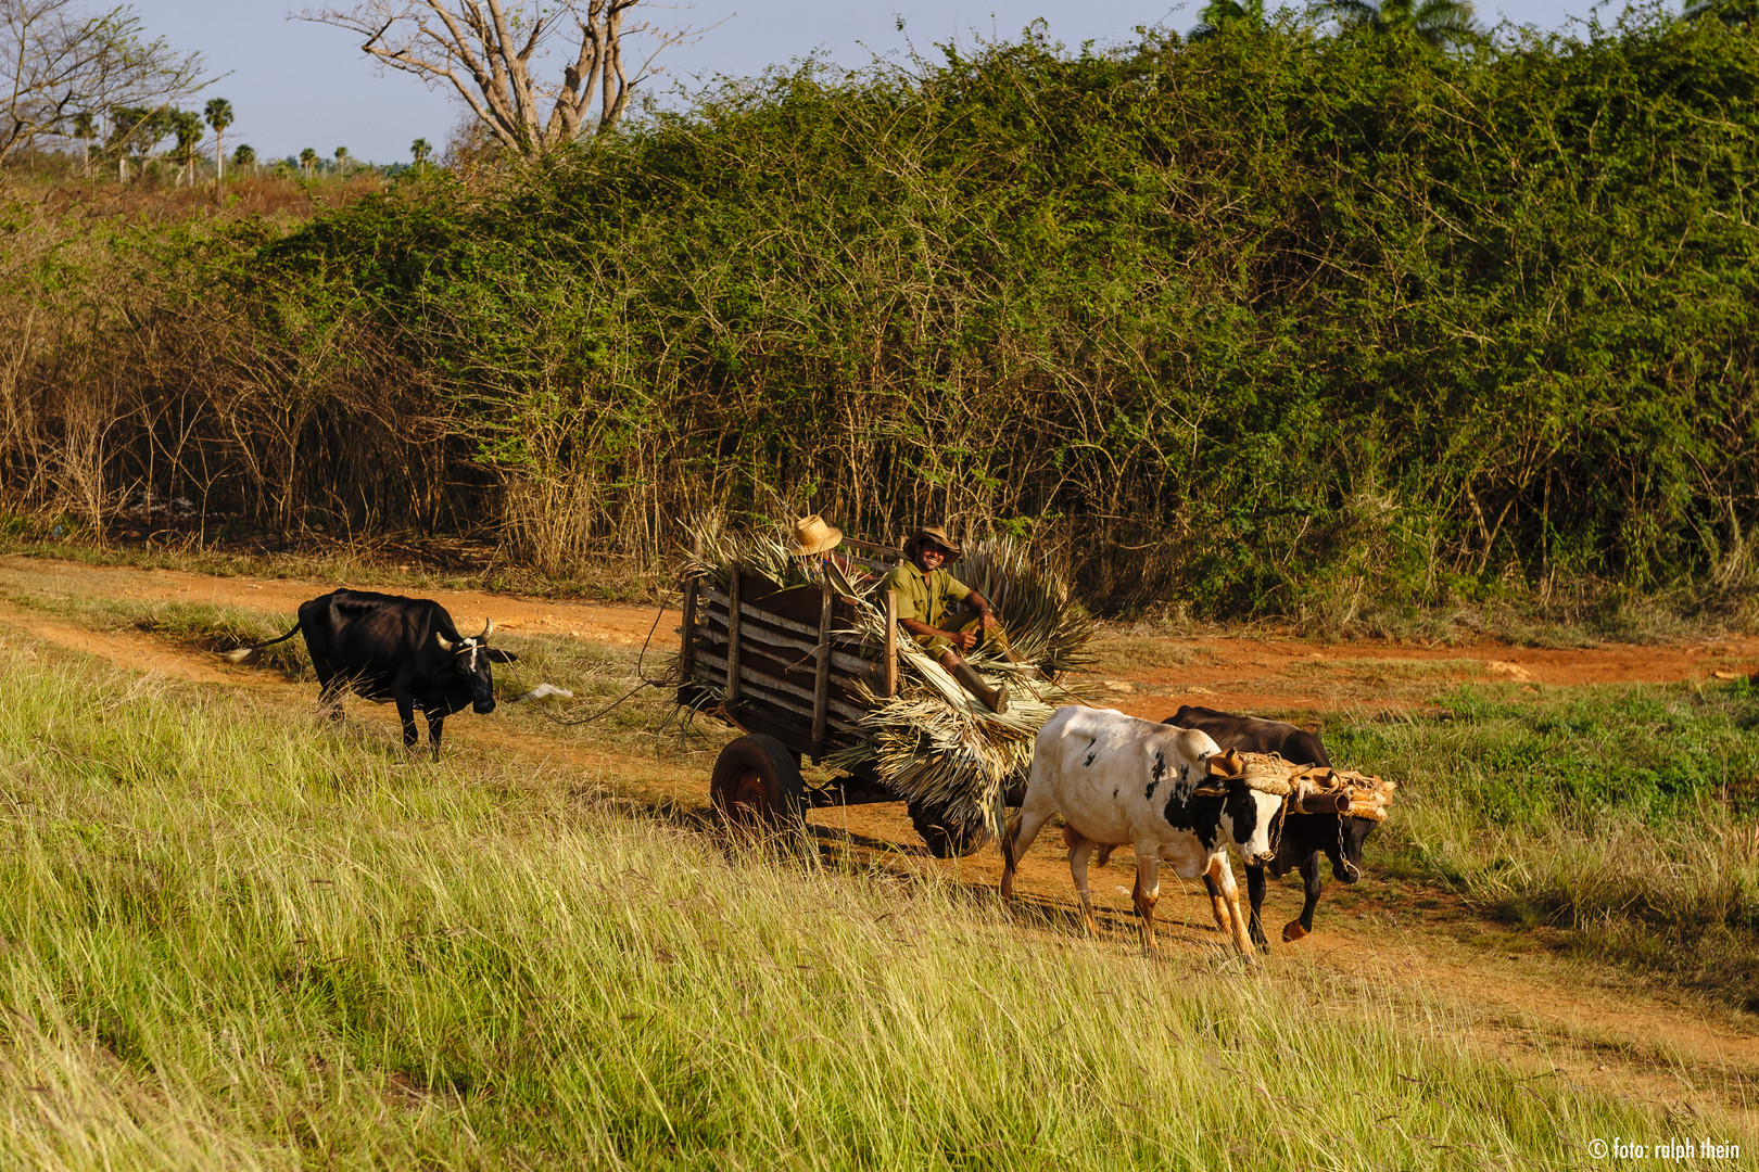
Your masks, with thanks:
[[(661, 49), (702, 35), (628, 21), (644, 0), (366, 0), (350, 9), (313, 9), (301, 19), (334, 25), (366, 40), (361, 51), (382, 67), (452, 86), (507, 148), (536, 158), (603, 132), (628, 109), (630, 91), (658, 72)], [(628, 23), (626, 23), (628, 21)], [(630, 74), (623, 39), (647, 35), (654, 47)], [(533, 76), (552, 42), (570, 46), (566, 65), (545, 83)], [(575, 46), (577, 42), (577, 46)], [(591, 121), (593, 104), (598, 119)]]

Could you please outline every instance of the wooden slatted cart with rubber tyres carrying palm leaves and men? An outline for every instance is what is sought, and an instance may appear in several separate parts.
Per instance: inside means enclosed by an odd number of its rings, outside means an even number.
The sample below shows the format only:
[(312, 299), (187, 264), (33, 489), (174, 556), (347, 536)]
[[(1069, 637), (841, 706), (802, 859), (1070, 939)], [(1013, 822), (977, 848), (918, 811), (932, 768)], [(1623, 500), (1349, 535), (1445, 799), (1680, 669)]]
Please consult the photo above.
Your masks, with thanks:
[[(844, 539), (857, 569), (883, 573), (902, 553)], [(862, 763), (823, 785), (807, 787), (800, 763), (814, 764), (867, 734), (858, 720), (871, 696), (899, 687), (897, 597), (876, 599), (885, 636), (860, 634), (858, 603), (830, 580), (781, 587), (734, 562), (726, 587), (704, 576), (684, 583), (677, 703), (719, 717), (744, 736), (714, 763), (709, 798), (734, 826), (779, 829), (804, 810), (901, 801)], [(908, 638), (908, 636), (904, 636)], [(911, 822), (936, 857), (971, 854), (989, 840), (983, 822), (948, 826), (943, 810), (909, 805)]]

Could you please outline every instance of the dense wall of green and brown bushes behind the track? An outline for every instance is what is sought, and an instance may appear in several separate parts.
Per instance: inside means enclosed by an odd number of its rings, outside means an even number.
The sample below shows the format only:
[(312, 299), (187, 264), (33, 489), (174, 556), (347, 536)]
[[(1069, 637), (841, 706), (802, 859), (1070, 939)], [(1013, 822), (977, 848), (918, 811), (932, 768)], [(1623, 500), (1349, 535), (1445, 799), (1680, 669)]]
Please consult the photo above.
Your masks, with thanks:
[(1653, 11), (1027, 37), (292, 230), (25, 202), (0, 466), (91, 527), (151, 487), (552, 571), (811, 508), (1004, 525), (1113, 608), (1752, 620), (1755, 79), (1759, 33)]

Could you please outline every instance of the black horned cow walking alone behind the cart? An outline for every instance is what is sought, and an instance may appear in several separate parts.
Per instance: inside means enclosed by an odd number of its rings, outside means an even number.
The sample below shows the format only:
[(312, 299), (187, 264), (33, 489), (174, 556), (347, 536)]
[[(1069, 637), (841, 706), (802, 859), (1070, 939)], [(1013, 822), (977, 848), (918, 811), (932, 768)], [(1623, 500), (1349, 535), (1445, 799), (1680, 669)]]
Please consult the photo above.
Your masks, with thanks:
[(278, 640), (227, 652), (241, 662), (264, 647), (304, 633), (311, 666), (318, 673), (318, 703), (336, 712), (345, 691), (380, 703), (398, 705), (403, 745), (413, 749), (415, 708), (427, 713), (427, 740), (440, 759), (445, 719), (470, 705), (494, 712), (494, 676), (489, 664), (519, 659), (489, 647), (494, 620), (482, 634), (464, 638), (452, 626), (445, 606), (426, 597), (332, 590), (299, 604), (299, 622)]

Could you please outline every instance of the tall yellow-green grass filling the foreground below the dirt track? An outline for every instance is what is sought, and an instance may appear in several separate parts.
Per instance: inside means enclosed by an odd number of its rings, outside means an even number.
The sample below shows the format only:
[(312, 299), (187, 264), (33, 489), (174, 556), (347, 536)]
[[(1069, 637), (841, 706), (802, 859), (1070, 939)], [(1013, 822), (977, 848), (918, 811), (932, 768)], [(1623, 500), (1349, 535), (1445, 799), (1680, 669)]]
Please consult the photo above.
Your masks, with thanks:
[(1036, 938), (573, 782), (5, 673), (0, 1161), (1530, 1168), (1664, 1125), (1441, 1003)]

